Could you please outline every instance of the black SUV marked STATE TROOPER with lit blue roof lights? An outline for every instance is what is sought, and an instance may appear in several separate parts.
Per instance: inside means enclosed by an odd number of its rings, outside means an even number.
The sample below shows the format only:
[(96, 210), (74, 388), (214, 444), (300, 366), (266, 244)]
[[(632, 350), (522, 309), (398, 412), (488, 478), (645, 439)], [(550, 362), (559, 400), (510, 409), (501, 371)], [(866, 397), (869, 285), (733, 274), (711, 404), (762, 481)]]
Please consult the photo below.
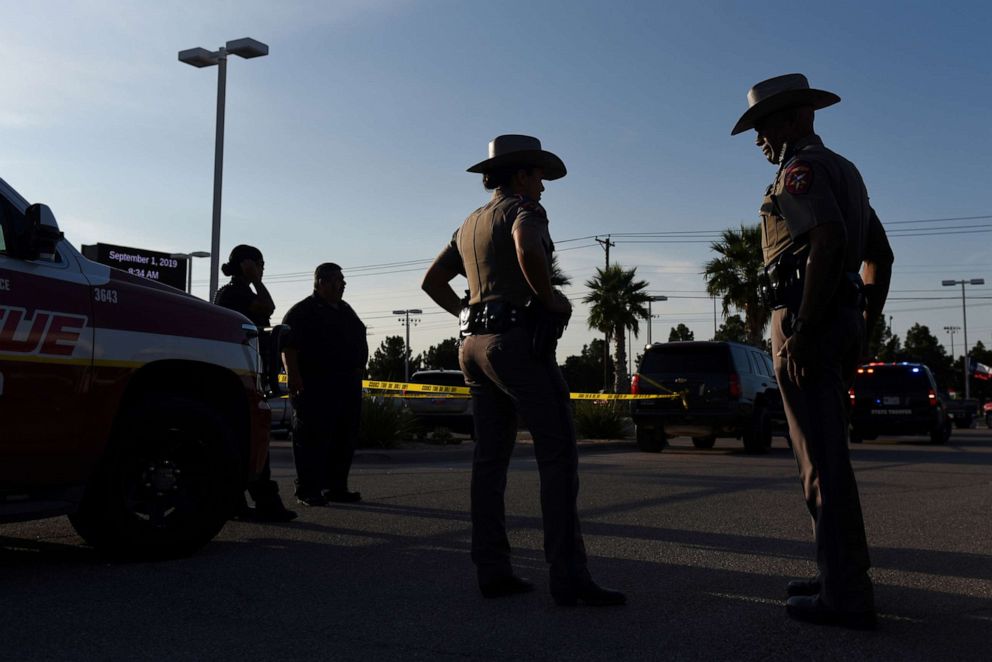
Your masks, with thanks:
[(951, 419), (930, 368), (922, 363), (868, 363), (854, 375), (851, 442), (880, 434), (929, 435), (935, 444), (951, 437)]

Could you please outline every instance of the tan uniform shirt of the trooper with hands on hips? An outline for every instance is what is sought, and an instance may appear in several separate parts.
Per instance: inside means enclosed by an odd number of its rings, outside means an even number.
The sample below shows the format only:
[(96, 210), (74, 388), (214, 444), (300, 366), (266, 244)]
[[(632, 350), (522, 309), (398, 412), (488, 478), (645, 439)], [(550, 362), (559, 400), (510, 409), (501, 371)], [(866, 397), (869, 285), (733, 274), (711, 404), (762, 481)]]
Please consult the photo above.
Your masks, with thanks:
[(469, 303), (502, 300), (523, 306), (534, 295), (520, 269), (513, 243), (513, 231), (523, 225), (541, 233), (551, 264), (554, 243), (548, 234), (544, 207), (499, 190), (493, 193), (492, 200), (465, 219), (435, 262), (465, 274)]

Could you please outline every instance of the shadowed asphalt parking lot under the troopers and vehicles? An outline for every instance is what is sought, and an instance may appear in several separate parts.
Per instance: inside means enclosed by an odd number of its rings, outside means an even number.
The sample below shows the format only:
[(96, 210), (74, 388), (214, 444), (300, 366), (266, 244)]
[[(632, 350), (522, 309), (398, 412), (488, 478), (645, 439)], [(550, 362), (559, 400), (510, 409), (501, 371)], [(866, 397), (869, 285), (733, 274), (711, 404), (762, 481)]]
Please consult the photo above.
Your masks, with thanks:
[[(472, 445), (361, 451), (356, 505), (296, 522), (232, 522), (192, 558), (108, 563), (65, 518), (0, 527), (7, 659), (987, 660), (992, 434), (852, 450), (871, 545), (876, 632), (789, 621), (788, 580), (814, 572), (795, 463), (781, 439), (581, 445), (580, 508), (597, 580), (625, 607), (558, 608), (546, 590), (536, 465), (521, 443), (507, 517), (532, 594), (482, 599), (468, 558)], [(274, 472), (291, 492), (289, 446)], [(291, 500), (291, 499), (290, 499)], [(302, 507), (299, 507), (302, 508)]]

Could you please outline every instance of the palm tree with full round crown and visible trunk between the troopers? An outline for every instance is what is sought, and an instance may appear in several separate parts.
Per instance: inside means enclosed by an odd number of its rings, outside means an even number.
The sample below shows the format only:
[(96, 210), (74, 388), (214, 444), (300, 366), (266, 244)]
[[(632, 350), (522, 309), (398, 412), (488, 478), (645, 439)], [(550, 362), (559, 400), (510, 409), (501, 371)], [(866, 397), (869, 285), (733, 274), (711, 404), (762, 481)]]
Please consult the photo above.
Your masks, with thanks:
[(589, 294), (582, 300), (591, 304), (589, 308), (589, 328), (601, 331), (607, 342), (614, 343), (613, 388), (623, 393), (630, 387), (627, 376), (627, 331), (637, 333), (640, 320), (647, 317), (647, 302), (651, 295), (645, 290), (648, 283), (635, 280), (637, 268), (624, 269), (615, 264), (605, 269), (596, 269), (596, 275), (586, 281)]

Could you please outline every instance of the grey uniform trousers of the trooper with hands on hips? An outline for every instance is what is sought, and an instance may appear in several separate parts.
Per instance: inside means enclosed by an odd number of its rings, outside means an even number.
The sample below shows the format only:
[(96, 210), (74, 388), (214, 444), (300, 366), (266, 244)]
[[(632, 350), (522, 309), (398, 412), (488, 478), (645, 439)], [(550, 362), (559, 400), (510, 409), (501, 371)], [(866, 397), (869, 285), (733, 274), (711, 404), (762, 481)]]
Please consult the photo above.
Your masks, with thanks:
[(517, 416), (534, 440), (541, 477), (544, 555), (552, 581), (588, 577), (579, 530), (578, 451), (568, 385), (554, 356), (538, 359), (523, 327), (468, 336), (459, 350), (472, 390), (472, 561), (482, 582), (512, 572), (503, 495), (517, 437)]

